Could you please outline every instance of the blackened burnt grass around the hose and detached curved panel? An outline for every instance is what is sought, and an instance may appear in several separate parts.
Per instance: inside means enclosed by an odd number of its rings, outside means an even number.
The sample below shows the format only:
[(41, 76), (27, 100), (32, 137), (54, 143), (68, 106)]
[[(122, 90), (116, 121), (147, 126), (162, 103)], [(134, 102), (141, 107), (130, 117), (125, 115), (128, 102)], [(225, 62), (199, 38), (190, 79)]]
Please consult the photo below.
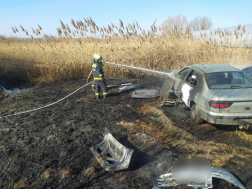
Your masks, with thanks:
[[(140, 77), (138, 83), (145, 88), (160, 89), (164, 79)], [(2, 99), (1, 115), (44, 106), (85, 83), (86, 80), (79, 79), (27, 84), (26, 90)], [(106, 99), (96, 100), (88, 86), (49, 108), (1, 119), (0, 188), (152, 188), (157, 177), (185, 153), (148, 142), (153, 141), (148, 135), (117, 124), (144, 120), (148, 115), (139, 115), (134, 109), (156, 99), (132, 99), (129, 92), (119, 92), (117, 88), (109, 94)], [(171, 109), (166, 107), (164, 112), (175, 126), (195, 135), (202, 134), (200, 131), (197, 134), (195, 129), (188, 130), (192, 124), (188, 111), (181, 107)], [(182, 122), (181, 112), (186, 122)], [(105, 127), (118, 141), (134, 149), (127, 170), (106, 172), (90, 152), (91, 146), (102, 141)], [(252, 179), (251, 176), (247, 178)], [(235, 188), (225, 181), (215, 182), (214, 188)]]

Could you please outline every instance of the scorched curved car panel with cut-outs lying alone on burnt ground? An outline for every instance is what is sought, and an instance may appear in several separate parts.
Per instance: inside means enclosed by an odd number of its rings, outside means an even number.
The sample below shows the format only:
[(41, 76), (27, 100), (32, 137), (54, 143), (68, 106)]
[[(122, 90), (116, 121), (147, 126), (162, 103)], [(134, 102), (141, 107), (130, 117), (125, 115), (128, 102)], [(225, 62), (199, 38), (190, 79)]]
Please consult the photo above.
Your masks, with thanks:
[(90, 150), (106, 171), (127, 169), (134, 151), (119, 143), (107, 128), (105, 128), (103, 141), (92, 146)]

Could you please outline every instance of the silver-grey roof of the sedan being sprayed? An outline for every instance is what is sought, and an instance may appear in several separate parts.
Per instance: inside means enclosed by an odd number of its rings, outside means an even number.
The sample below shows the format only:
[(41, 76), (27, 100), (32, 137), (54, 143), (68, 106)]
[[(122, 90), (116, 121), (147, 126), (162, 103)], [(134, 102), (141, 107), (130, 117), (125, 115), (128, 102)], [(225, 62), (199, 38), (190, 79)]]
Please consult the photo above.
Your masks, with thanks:
[(190, 67), (198, 68), (204, 73), (230, 72), (230, 71), (241, 72), (241, 70), (234, 68), (232, 66), (225, 65), (225, 64), (198, 64), (198, 65), (193, 65)]

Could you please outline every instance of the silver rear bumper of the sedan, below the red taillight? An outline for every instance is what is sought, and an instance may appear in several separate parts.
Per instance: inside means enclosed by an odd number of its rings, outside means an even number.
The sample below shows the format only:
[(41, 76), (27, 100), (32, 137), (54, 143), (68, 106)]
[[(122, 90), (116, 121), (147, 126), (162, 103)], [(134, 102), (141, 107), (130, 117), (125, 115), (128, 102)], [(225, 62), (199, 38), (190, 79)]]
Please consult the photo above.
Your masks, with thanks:
[(220, 125), (241, 125), (238, 120), (252, 122), (252, 113), (216, 113), (200, 110), (201, 117), (209, 123)]

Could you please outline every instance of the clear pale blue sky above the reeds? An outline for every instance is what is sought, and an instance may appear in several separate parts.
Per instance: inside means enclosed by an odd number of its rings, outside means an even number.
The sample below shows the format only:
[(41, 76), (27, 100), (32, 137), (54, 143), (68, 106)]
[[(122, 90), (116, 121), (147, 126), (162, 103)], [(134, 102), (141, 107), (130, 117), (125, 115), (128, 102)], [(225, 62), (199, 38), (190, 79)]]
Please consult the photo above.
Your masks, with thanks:
[[(0, 35), (15, 36), (11, 27), (42, 27), (43, 33), (57, 35), (59, 20), (71, 25), (71, 19), (91, 17), (96, 25), (124, 25), (135, 21), (149, 29), (154, 20), (160, 26), (168, 17), (184, 15), (209, 17), (214, 28), (252, 24), (252, 0), (0, 0)], [(25, 36), (19, 33), (19, 36)], [(17, 37), (19, 37), (17, 36)]]

